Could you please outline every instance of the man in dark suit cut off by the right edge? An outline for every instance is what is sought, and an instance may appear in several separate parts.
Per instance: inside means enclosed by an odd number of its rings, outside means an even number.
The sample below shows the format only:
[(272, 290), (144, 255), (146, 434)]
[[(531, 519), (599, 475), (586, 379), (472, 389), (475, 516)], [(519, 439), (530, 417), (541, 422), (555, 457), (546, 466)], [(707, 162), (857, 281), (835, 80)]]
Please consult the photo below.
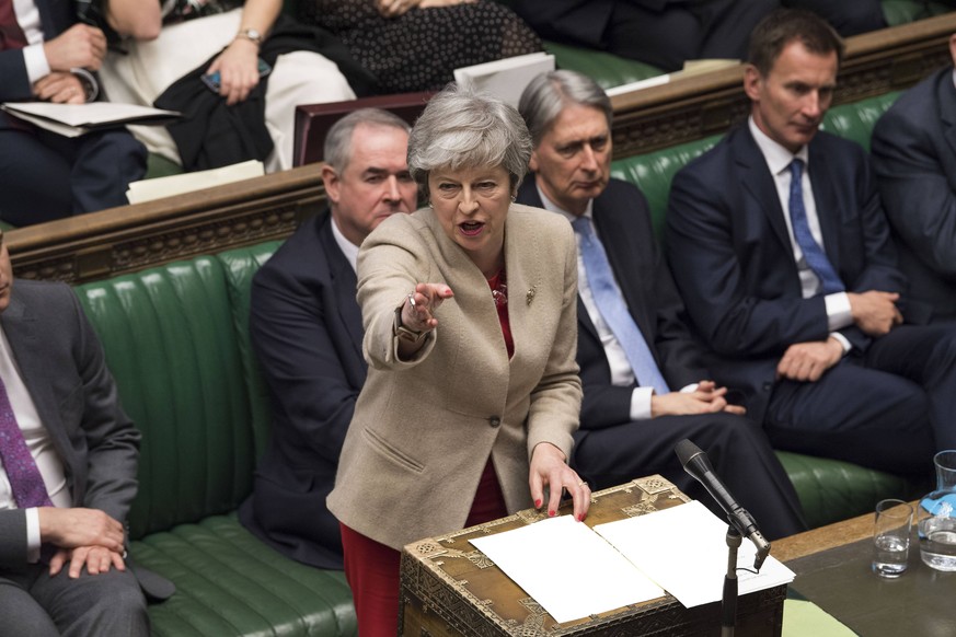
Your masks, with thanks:
[[(949, 38), (956, 61), (956, 35)], [(956, 84), (954, 68), (897, 100), (873, 129), (873, 165), (910, 298), (932, 321), (956, 320)]]

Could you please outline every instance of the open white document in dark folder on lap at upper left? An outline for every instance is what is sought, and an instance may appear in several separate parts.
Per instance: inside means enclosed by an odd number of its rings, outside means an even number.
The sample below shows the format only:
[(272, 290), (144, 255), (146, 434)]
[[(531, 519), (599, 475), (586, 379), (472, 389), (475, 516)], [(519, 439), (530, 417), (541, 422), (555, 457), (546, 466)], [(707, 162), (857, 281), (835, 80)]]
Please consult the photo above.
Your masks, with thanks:
[(181, 114), (136, 104), (90, 102), (88, 104), (53, 104), (50, 102), (5, 102), (7, 113), (64, 137), (79, 137), (93, 130), (116, 128), (127, 124), (162, 125)]

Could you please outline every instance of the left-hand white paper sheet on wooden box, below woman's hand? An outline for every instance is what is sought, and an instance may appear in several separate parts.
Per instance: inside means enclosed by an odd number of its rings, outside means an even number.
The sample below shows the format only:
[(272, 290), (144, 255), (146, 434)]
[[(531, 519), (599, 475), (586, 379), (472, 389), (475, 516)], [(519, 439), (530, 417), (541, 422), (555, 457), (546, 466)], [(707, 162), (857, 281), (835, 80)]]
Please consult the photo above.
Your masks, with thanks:
[(471, 543), (558, 623), (664, 595), (613, 546), (571, 516)]

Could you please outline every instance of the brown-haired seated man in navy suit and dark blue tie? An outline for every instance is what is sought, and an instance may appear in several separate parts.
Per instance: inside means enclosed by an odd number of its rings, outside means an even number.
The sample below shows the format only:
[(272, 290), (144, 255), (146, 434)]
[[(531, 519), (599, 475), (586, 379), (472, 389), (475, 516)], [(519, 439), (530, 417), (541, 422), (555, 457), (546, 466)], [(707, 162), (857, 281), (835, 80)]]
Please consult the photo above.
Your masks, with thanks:
[(774, 447), (924, 472), (956, 444), (956, 339), (909, 324), (925, 308), (902, 297), (866, 154), (818, 131), (842, 50), (813, 13), (761, 22), (750, 120), (675, 177), (667, 255), (711, 369)]

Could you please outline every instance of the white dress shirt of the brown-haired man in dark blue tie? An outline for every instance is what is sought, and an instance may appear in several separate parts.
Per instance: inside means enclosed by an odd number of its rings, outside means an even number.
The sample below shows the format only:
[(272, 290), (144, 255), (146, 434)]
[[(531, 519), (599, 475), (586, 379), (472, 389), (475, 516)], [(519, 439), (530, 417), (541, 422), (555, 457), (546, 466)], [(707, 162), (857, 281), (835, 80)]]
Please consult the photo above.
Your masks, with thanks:
[[(820, 230), (820, 217), (817, 215), (817, 201), (814, 198), (814, 188), (810, 184), (809, 151), (807, 150), (807, 147), (803, 147), (796, 154), (793, 154), (760, 130), (753, 121), (752, 116), (750, 117), (748, 125), (750, 126), (750, 132), (753, 136), (753, 140), (757, 142), (757, 147), (763, 154), (764, 161), (767, 161), (767, 167), (770, 169), (770, 174), (773, 175), (773, 183), (776, 186), (776, 195), (780, 198), (780, 206), (783, 209), (783, 219), (786, 222), (786, 231), (790, 235), (793, 258), (797, 264), (797, 271), (799, 273), (800, 291), (804, 299), (816, 297), (820, 293), (822, 285), (820, 283), (817, 274), (809, 265), (807, 265), (807, 259), (804, 258), (803, 250), (800, 250), (800, 246), (794, 236), (793, 222), (790, 218), (790, 186), (793, 181), (790, 164), (794, 159), (799, 159), (803, 160), (804, 165), (806, 166), (806, 170), (802, 175), (800, 186), (804, 197), (804, 208), (807, 212), (807, 224), (810, 228), (810, 234), (814, 235), (814, 240), (821, 248), (826, 250), (823, 234)], [(827, 308), (827, 325), (830, 329), (830, 335), (840, 341), (843, 346), (843, 352), (845, 354), (850, 350), (850, 341), (845, 336), (838, 333), (837, 329), (842, 329), (843, 327), (853, 324), (853, 315), (850, 309), (850, 297), (846, 296), (846, 292), (834, 292), (832, 294), (827, 294), (823, 298), (823, 302)]]

